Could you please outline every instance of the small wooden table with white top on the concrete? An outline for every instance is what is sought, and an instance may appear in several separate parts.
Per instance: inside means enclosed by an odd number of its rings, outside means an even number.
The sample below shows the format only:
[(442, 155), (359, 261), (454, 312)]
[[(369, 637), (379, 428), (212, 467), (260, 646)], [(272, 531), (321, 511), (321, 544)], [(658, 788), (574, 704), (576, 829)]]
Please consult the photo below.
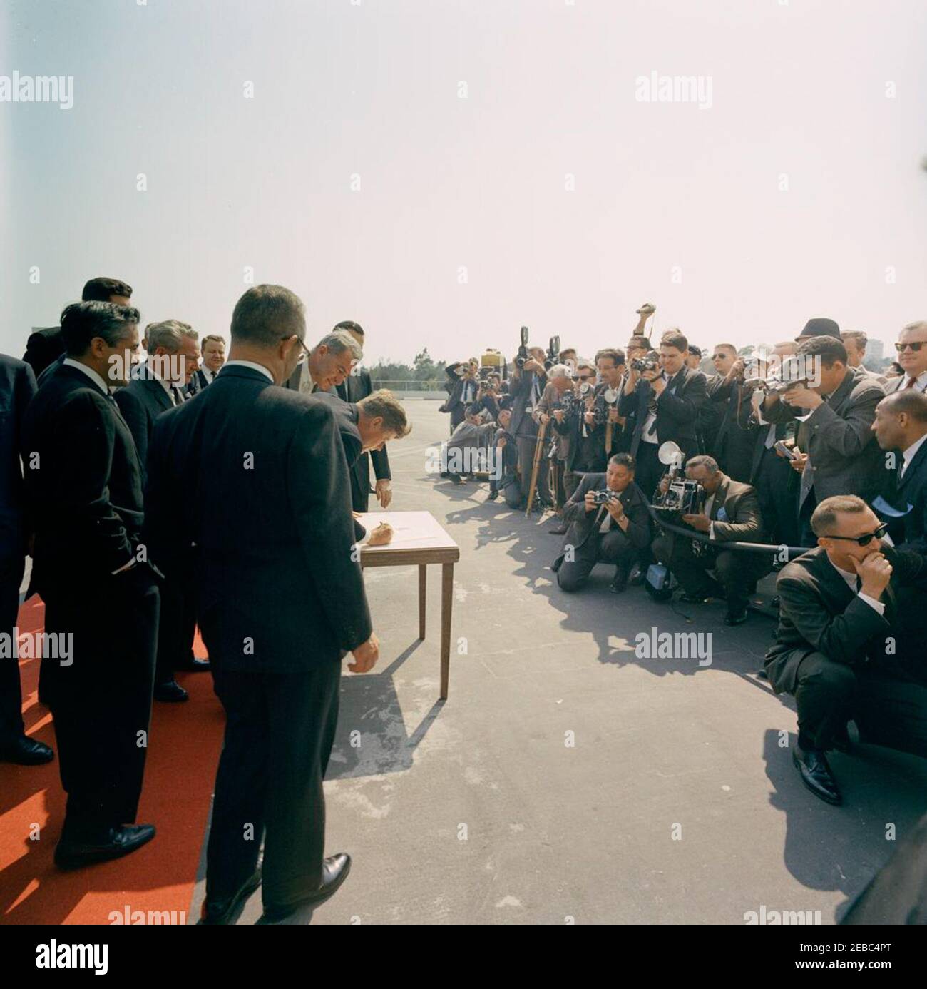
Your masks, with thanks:
[(388, 546), (362, 546), (361, 567), (418, 567), (418, 637), (425, 638), (427, 567), (441, 564), (441, 699), (447, 700), (451, 673), (451, 610), (454, 605), (454, 565), (461, 559), (458, 544), (428, 511), (369, 511), (360, 516), (368, 532), (379, 522), (394, 529)]

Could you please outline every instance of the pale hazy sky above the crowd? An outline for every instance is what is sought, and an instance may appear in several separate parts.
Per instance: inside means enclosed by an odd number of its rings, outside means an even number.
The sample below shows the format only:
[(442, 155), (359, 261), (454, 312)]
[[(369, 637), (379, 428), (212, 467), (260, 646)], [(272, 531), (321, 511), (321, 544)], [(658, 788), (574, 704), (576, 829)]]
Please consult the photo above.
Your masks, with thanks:
[(0, 350), (94, 275), (227, 335), (246, 268), (367, 364), (523, 323), (591, 354), (644, 301), (702, 346), (891, 341), (927, 318), (925, 51), (923, 0), (5, 0), (0, 75), (74, 105), (0, 103)]

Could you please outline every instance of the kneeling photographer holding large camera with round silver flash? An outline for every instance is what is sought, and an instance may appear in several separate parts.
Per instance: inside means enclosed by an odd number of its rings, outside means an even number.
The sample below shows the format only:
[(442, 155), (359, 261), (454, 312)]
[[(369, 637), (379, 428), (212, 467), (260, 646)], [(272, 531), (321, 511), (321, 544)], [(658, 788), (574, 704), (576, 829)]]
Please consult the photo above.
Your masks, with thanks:
[[(747, 620), (749, 588), (772, 570), (772, 548), (767, 556), (724, 549), (722, 544), (765, 542), (759, 496), (750, 485), (728, 478), (715, 458), (706, 454), (689, 460), (686, 477), (702, 489), (701, 510), (684, 514), (680, 522), (708, 534), (711, 543), (664, 532), (654, 539), (653, 553), (683, 585), (682, 600), (701, 603), (708, 597), (723, 597), (727, 601), (724, 624), (740, 625)], [(669, 484), (667, 476), (661, 490)]]

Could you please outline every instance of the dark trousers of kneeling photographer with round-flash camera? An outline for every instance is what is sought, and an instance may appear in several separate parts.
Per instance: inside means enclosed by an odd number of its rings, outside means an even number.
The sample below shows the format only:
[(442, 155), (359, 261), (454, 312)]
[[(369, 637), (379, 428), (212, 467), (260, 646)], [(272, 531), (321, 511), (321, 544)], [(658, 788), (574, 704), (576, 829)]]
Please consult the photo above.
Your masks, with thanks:
[[(723, 546), (723, 543), (719, 545)], [(773, 569), (772, 548), (767, 556), (708, 547), (705, 555), (697, 556), (691, 539), (664, 535), (654, 539), (653, 553), (676, 575), (687, 594), (711, 597), (716, 595), (720, 584), (730, 612), (745, 608), (749, 600), (747, 585)], [(711, 571), (715, 572), (716, 579)]]

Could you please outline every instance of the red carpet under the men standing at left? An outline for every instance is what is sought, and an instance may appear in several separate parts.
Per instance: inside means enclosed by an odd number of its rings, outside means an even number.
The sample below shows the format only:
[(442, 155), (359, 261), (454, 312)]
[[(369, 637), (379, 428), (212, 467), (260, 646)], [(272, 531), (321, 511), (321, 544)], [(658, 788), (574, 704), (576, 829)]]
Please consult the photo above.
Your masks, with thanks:
[[(44, 605), (20, 608), (20, 632), (41, 631)], [(196, 652), (206, 650), (197, 639)], [(55, 746), (39, 703), (39, 660), (22, 660), (26, 733)], [(0, 763), (0, 924), (109, 924), (118, 911), (187, 911), (210, 811), (225, 717), (210, 674), (178, 674), (186, 704), (155, 704), (139, 823), (157, 836), (113, 862), (62, 872), (52, 861), (64, 793), (57, 760), (42, 766)], [(37, 836), (38, 840), (34, 840)], [(189, 919), (189, 918), (188, 918)]]

